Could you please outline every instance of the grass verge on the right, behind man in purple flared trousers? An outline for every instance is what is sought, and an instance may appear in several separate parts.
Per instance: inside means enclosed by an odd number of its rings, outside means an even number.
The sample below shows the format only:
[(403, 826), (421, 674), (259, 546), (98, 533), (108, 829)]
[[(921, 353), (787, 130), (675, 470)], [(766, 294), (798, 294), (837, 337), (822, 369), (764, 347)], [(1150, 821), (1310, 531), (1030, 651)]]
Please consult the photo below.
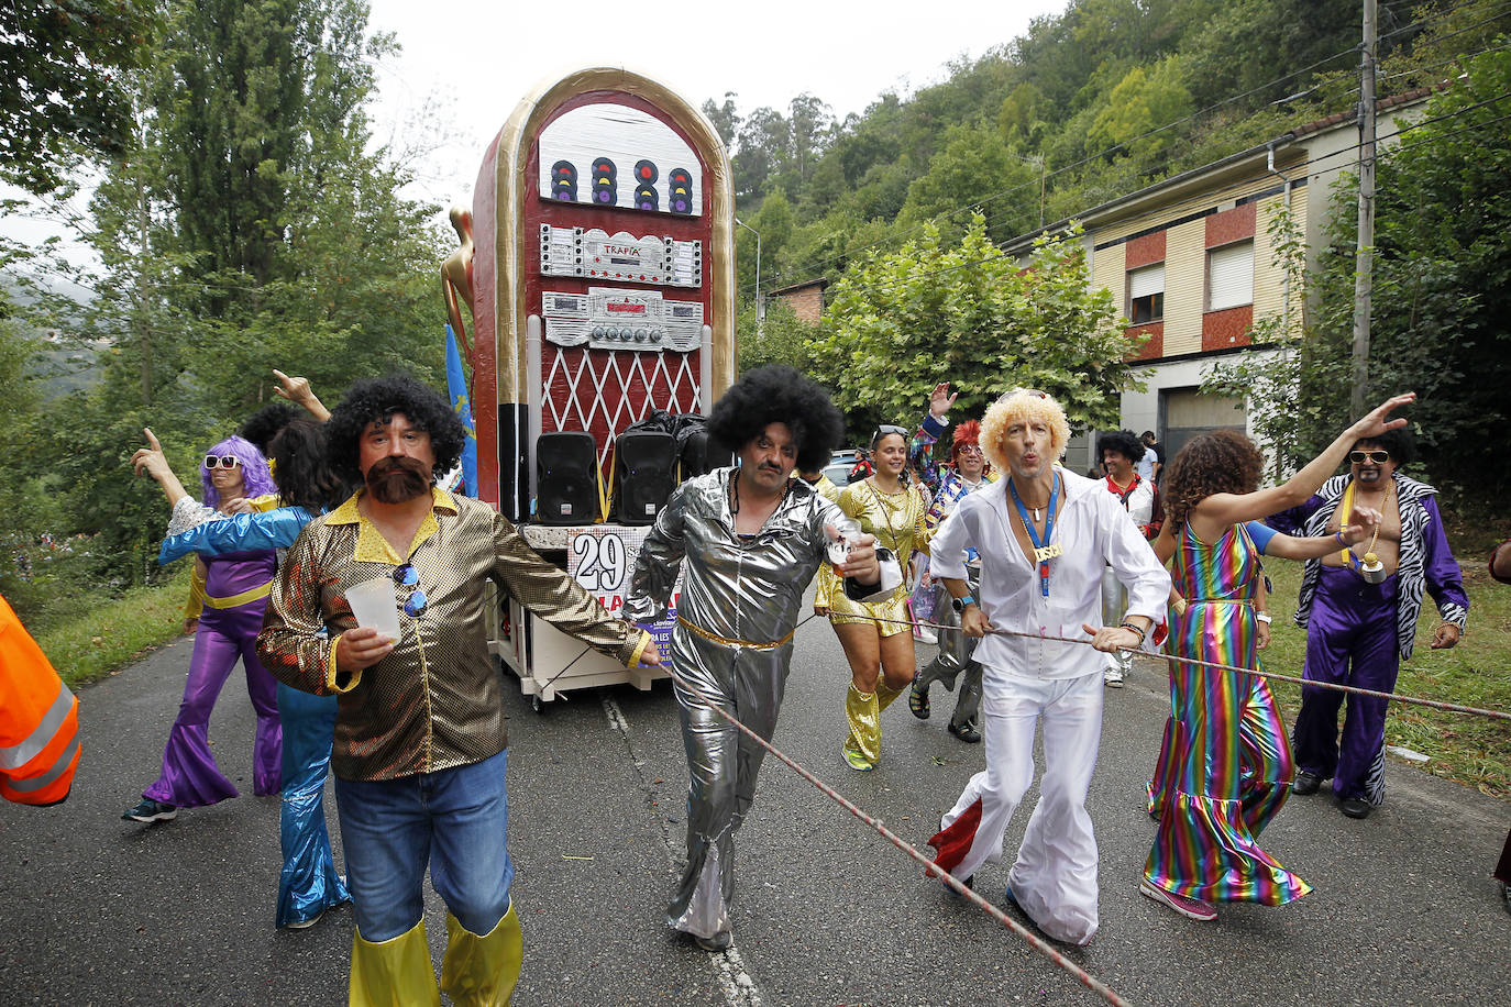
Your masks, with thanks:
[[(1422, 599), (1416, 649), (1411, 660), (1401, 666), (1398, 694), (1511, 711), (1511, 587), (1490, 578), (1478, 559), (1487, 553), (1488, 548), (1455, 550), (1455, 556), (1464, 560), (1464, 589), (1469, 593), (1469, 630), (1458, 646), (1451, 651), (1428, 646), (1438, 616), (1431, 596)], [(1306, 630), (1298, 628), (1290, 616), (1296, 608), (1302, 568), (1287, 560), (1269, 560), (1265, 568), (1275, 584), (1269, 601), (1275, 621), (1271, 645), (1260, 652), (1260, 660), (1269, 670), (1299, 678), (1306, 660)], [(1289, 729), (1301, 708), (1301, 687), (1274, 682), (1274, 690)], [(1422, 768), (1434, 776), (1511, 800), (1511, 723), (1505, 720), (1392, 702), (1386, 716), (1386, 744), (1429, 756)]]

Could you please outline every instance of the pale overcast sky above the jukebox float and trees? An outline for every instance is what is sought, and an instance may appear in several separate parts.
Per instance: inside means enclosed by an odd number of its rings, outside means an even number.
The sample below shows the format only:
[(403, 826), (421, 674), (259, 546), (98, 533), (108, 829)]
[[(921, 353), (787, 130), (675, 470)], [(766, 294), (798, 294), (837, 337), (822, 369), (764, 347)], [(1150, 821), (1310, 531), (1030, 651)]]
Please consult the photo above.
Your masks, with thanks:
[[(694, 106), (736, 92), (748, 113), (786, 112), (810, 92), (836, 116), (864, 112), (884, 91), (943, 80), (949, 60), (978, 57), (1021, 35), (1068, 0), (765, 0), (616, 5), (603, 24), (592, 5), (520, 0), (372, 0), (372, 30), (393, 32), (403, 54), (378, 74), (375, 134), (420, 146), (449, 121), (446, 142), (414, 163), (419, 189), (441, 205), (470, 204), (484, 151), (514, 106), (541, 80), (582, 66), (626, 66), (669, 85)], [(636, 11), (645, 11), (638, 14)], [(697, 11), (688, 24), (677, 9)], [(438, 104), (437, 104), (438, 103)], [(431, 140), (434, 142), (434, 140)]]

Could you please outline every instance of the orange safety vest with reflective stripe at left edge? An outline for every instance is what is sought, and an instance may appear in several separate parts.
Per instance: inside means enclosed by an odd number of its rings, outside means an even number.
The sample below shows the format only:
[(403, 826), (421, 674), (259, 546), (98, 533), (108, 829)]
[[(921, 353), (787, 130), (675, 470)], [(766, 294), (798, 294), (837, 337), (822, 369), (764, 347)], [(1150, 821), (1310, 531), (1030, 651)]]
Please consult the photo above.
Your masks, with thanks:
[(0, 596), (0, 797), (56, 805), (79, 768), (79, 701)]

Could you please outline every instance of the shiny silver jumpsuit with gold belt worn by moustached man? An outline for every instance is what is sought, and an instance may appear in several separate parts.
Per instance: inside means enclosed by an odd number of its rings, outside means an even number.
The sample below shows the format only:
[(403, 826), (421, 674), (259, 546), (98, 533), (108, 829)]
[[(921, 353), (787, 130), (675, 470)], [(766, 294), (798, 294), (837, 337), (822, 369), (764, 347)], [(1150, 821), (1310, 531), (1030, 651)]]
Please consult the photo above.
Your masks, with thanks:
[[(672, 669), (769, 740), (792, 663), (802, 595), (827, 556), (825, 525), (843, 534), (855, 534), (857, 528), (839, 507), (795, 480), (766, 525), (752, 536), (739, 536), (728, 503), (734, 473), (715, 470), (672, 492), (641, 547), (624, 616), (633, 622), (663, 616), (681, 569)], [(896, 562), (888, 565), (890, 553), (876, 553), (881, 584), (860, 587), (846, 580), (851, 598), (879, 598), (901, 581)], [(674, 684), (674, 691), (688, 750), (688, 865), (666, 907), (666, 922), (709, 939), (730, 930), (734, 832), (756, 797), (765, 749), (681, 684)]]

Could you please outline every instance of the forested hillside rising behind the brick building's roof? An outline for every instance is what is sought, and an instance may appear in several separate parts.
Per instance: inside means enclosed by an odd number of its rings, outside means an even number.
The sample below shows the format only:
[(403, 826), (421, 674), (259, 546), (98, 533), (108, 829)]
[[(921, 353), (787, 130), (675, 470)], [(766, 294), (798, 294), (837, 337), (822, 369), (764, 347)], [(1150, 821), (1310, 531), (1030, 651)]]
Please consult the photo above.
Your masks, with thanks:
[[(762, 288), (837, 278), (861, 252), (972, 207), (1003, 242), (1280, 136), (1358, 100), (1358, 0), (1076, 0), (911, 95), (836, 121), (707, 101), (762, 236)], [(1454, 77), (1503, 45), (1503, 0), (1380, 5), (1381, 95)], [(740, 291), (756, 242), (740, 231)]]

